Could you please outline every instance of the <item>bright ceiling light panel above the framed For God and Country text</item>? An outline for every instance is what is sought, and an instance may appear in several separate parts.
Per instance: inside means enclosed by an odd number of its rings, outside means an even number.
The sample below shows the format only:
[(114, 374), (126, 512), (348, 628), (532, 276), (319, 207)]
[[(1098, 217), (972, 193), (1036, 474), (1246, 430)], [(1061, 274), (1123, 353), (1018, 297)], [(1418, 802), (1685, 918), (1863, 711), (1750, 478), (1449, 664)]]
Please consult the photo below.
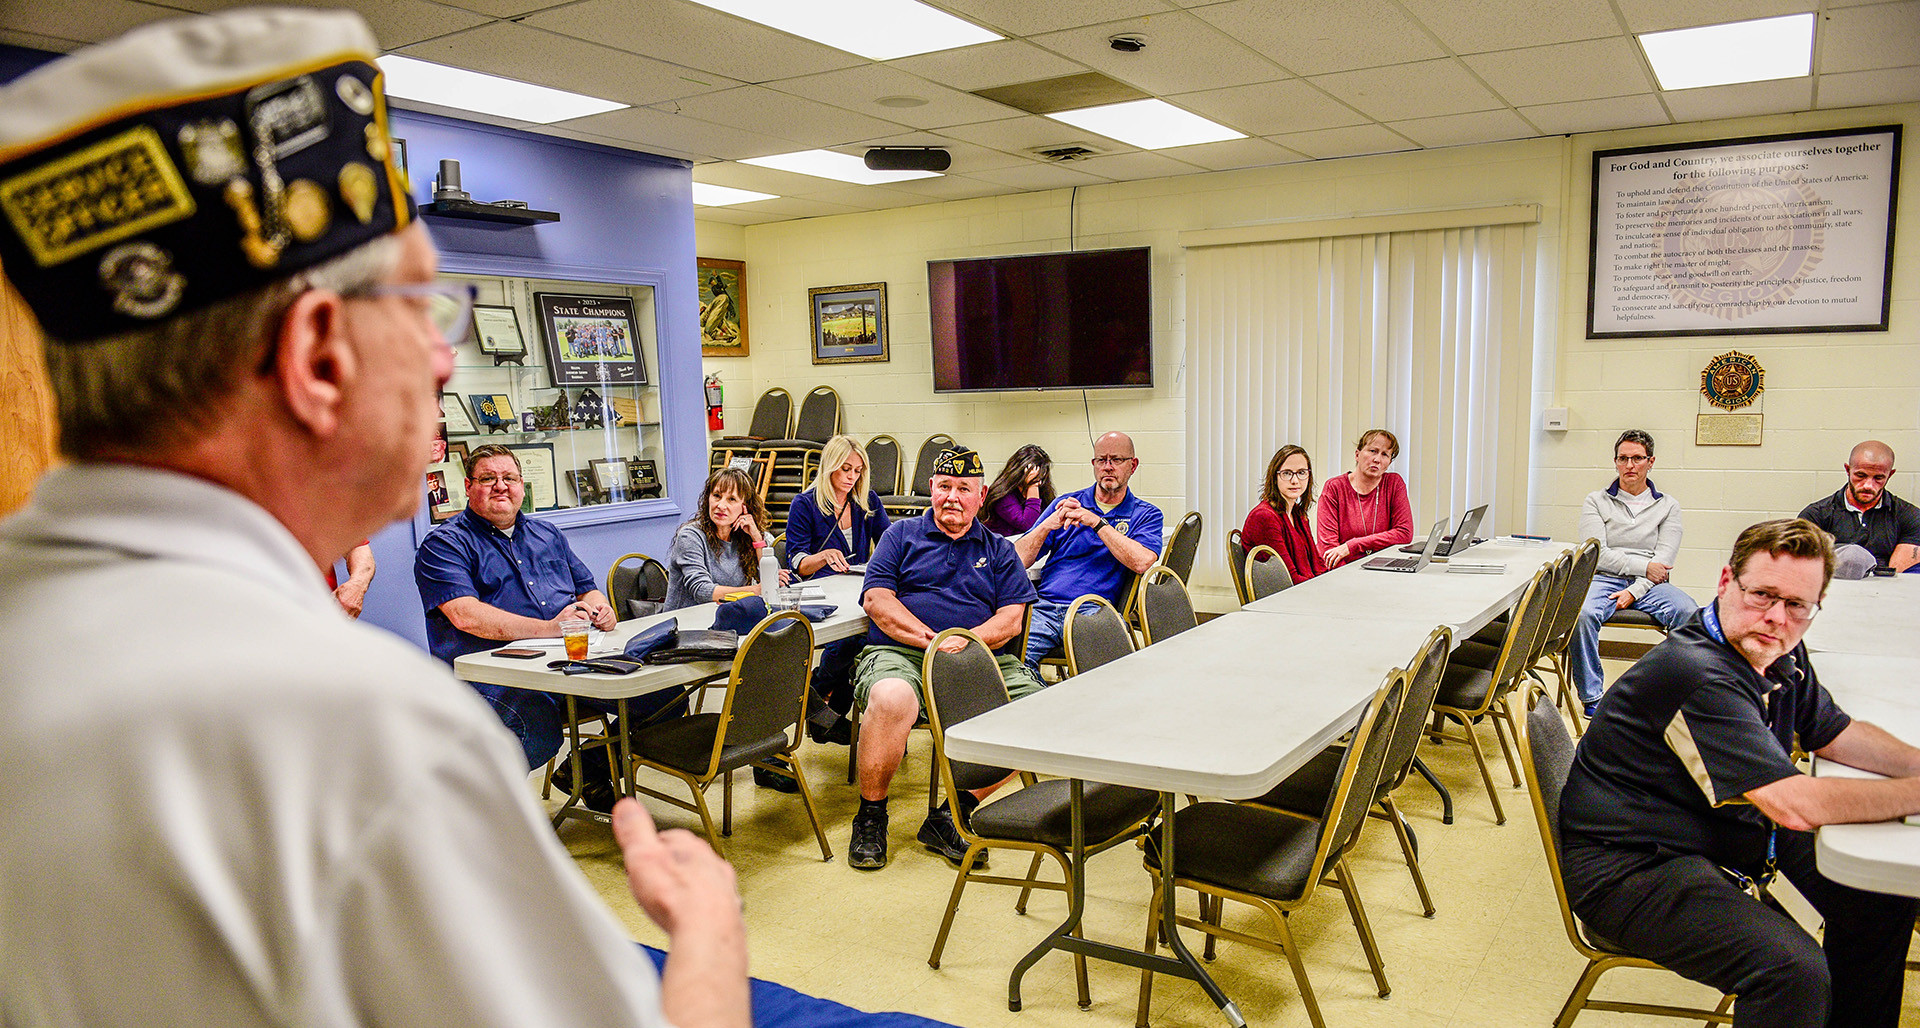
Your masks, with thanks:
[(1640, 46), (1661, 88), (1799, 79), (1812, 71), (1812, 15), (1642, 33)]

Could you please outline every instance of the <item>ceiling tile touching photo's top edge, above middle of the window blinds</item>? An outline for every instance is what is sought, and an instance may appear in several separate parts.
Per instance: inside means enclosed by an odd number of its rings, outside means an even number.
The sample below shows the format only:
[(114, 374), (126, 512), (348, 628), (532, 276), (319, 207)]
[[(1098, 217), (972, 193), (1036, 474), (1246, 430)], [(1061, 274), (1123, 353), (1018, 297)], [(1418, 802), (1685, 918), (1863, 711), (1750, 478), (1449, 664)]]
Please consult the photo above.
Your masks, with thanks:
[(1294, 75), (1446, 56), (1392, 0), (1233, 0), (1192, 13)]

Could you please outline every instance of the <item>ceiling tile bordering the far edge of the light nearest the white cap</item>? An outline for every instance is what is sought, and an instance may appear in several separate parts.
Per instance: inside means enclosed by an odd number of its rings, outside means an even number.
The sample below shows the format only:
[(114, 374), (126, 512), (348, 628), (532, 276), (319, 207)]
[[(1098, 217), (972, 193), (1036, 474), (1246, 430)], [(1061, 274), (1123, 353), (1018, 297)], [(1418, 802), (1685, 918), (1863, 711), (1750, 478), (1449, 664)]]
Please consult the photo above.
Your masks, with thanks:
[(407, 46), (403, 54), (636, 106), (739, 85), (705, 71), (691, 71), (676, 63), (511, 21), (492, 21), (478, 29)]

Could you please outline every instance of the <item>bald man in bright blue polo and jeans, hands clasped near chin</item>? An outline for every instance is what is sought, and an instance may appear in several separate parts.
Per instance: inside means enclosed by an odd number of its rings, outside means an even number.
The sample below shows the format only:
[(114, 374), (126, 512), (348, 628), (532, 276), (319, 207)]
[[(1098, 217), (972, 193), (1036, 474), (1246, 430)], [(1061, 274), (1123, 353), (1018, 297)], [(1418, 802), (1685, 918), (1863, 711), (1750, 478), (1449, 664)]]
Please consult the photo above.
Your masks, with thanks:
[(1091, 592), (1117, 607), (1127, 582), (1160, 559), (1160, 507), (1127, 488), (1139, 469), (1125, 432), (1100, 436), (1092, 444), (1092, 484), (1056, 498), (1014, 544), (1027, 567), (1048, 557), (1027, 628), (1027, 667), (1035, 673), (1041, 657), (1060, 649), (1068, 603)]

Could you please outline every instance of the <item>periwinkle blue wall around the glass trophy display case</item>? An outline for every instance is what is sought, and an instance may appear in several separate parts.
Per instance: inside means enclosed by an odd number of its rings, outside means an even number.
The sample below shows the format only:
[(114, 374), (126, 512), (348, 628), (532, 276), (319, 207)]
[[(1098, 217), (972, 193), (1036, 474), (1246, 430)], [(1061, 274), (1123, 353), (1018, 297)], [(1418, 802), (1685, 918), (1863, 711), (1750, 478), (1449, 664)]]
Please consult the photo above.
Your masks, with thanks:
[[(461, 188), (476, 200), (526, 200), (561, 215), (538, 227), (426, 217), (445, 271), (653, 286), (668, 498), (536, 517), (559, 525), (599, 578), (620, 553), (664, 559), (707, 477), (691, 165), (409, 111), (394, 111), (394, 135), (407, 140), (419, 204), (432, 200), (440, 159), (453, 158)], [(361, 615), (422, 648), (426, 615), (413, 584), (413, 551), (428, 530), (422, 511), (374, 536), (380, 571)]]

